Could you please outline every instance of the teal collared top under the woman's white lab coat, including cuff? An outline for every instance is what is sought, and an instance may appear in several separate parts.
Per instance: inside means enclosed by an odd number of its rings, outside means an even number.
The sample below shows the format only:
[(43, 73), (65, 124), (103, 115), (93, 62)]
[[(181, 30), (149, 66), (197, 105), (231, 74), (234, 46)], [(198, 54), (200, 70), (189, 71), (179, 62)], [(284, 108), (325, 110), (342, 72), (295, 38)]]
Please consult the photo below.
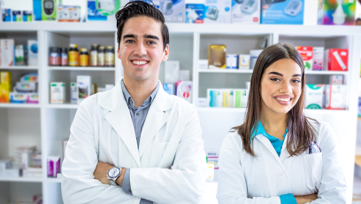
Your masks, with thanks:
[[(267, 134), (265, 132), (265, 128), (263, 127), (262, 123), (258, 122), (258, 128), (255, 131), (255, 133), (250, 137), (250, 140), (252, 140), (252, 138), (256, 137), (258, 134), (262, 134), (263, 136), (267, 137), (270, 140), (274, 150), (280, 156), (280, 151), (282, 150), (283, 141), (285, 141), (286, 139), (287, 132), (288, 132), (288, 128), (286, 129), (285, 134), (283, 135), (284, 137), (283, 140), (280, 141), (279, 138)], [(297, 202), (295, 196), (291, 193), (288, 193), (280, 196), (280, 204), (297, 204)]]

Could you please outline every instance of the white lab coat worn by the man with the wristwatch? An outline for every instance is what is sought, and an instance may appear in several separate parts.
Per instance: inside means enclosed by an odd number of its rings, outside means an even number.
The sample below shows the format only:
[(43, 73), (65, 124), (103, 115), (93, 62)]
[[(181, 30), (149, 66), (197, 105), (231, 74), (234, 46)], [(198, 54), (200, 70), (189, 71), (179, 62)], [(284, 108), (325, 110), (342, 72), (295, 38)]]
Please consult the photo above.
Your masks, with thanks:
[[(161, 84), (142, 128), (139, 150), (120, 82), (110, 91), (86, 98), (70, 130), (62, 166), (65, 203), (201, 200), (206, 163), (196, 107), (167, 94)], [(133, 195), (94, 179), (98, 161), (131, 169)]]

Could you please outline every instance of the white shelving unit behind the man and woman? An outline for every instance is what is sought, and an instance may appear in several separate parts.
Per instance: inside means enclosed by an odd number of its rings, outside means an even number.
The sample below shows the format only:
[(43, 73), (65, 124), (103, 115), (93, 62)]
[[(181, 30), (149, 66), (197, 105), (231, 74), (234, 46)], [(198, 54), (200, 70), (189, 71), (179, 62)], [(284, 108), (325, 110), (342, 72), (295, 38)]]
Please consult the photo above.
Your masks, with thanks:
[[(188, 25), (168, 24), (170, 30), (169, 60), (179, 60), (180, 69), (189, 70), (193, 81), (193, 103), (197, 98), (206, 97), (207, 88), (245, 88), (250, 81), (252, 70), (198, 70), (198, 59), (207, 59), (209, 43), (227, 45), (228, 53), (248, 54), (257, 49), (260, 38), (266, 37), (268, 44), (292, 43), (294, 45), (324, 46), (327, 48), (349, 49), (348, 72), (307, 72), (306, 83), (327, 83), (329, 75), (344, 75), (348, 84), (347, 110), (305, 110), (305, 113), (334, 128), (342, 149), (343, 166), (349, 184), (348, 203), (352, 198), (353, 167), (355, 159), (357, 86), (361, 56), (361, 27), (338, 26), (282, 26), (282, 25)], [(50, 82), (65, 82), (67, 95), (69, 83), (76, 81), (76, 75), (91, 75), (98, 87), (119, 82), (122, 67), (116, 60), (116, 67), (50, 67), (48, 50), (50, 46), (68, 47), (78, 43), (90, 47), (91, 43), (114, 45), (116, 43), (115, 23), (2, 23), (0, 38), (14, 38), (18, 43), (37, 39), (39, 65), (37, 67), (0, 67), (12, 71), (12, 82), (19, 75), (28, 72), (39, 74), (40, 103), (0, 104), (0, 159), (11, 157), (13, 150), (22, 145), (36, 145), (42, 151), (42, 178), (0, 177), (0, 198), (12, 200), (13, 193), (33, 188), (42, 192), (43, 203), (63, 203), (61, 179), (46, 176), (46, 158), (62, 155), (62, 141), (69, 137), (70, 126), (78, 105), (50, 104)], [(161, 65), (159, 79), (164, 81), (164, 65)], [(69, 96), (68, 96), (69, 97)], [(230, 128), (243, 122), (245, 108), (197, 107), (201, 126), (204, 130), (204, 148), (219, 149)], [(217, 174), (217, 171), (216, 171)], [(215, 182), (207, 183), (202, 203), (218, 203), (216, 200), (217, 176)], [(9, 196), (8, 194), (12, 194)], [(2, 197), (3, 196), (3, 197)], [(2, 200), (0, 199), (0, 202)]]

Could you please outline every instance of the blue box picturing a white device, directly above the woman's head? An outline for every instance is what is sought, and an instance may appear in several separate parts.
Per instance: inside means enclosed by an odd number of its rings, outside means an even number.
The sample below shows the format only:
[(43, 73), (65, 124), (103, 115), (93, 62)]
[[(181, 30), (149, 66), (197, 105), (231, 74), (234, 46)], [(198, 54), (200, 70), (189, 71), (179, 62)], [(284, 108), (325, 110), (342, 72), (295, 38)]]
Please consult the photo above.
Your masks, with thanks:
[(261, 24), (303, 25), (304, 0), (262, 0)]

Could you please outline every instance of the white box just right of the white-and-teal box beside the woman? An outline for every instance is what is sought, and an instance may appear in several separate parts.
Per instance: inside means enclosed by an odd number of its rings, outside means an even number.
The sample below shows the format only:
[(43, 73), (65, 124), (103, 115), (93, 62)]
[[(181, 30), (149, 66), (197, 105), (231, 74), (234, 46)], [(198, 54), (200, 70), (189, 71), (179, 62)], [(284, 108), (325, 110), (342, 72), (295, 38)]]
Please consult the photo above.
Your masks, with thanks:
[(346, 85), (326, 85), (326, 109), (345, 110), (347, 98)]

